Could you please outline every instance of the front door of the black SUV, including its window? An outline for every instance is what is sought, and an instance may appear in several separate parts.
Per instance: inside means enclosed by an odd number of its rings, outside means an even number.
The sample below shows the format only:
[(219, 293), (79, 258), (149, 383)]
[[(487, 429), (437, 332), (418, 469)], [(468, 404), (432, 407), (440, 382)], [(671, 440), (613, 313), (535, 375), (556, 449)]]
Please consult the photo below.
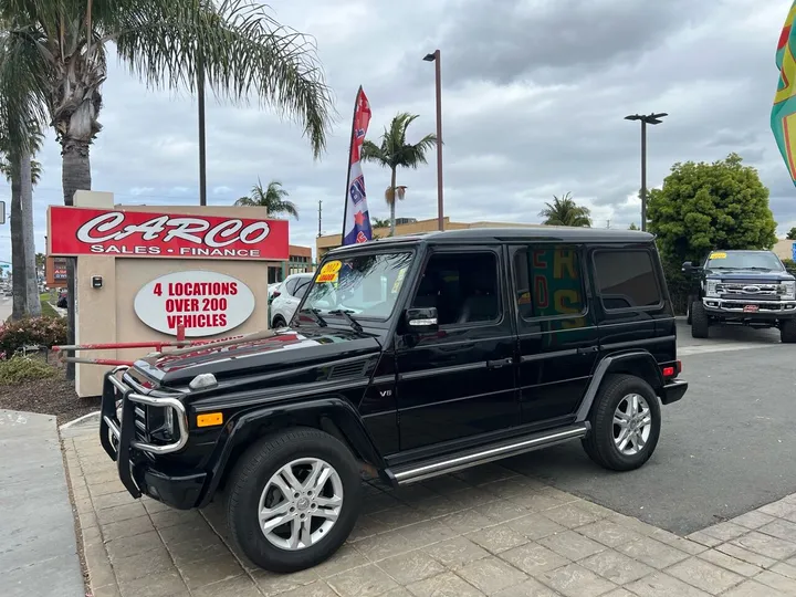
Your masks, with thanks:
[(427, 256), (411, 306), (436, 307), (440, 326), (396, 338), (402, 451), (520, 422), (501, 250), (434, 250)]

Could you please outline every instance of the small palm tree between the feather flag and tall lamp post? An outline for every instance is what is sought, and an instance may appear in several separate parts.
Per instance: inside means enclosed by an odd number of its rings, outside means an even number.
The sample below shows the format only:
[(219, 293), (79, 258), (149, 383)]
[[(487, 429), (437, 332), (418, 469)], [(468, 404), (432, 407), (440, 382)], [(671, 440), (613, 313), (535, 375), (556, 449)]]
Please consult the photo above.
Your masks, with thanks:
[(385, 201), (390, 207), (390, 237), (395, 234), (395, 205), (406, 196), (406, 187), (396, 186), (399, 167), (415, 168), (426, 161), (426, 151), (437, 145), (437, 135), (426, 135), (419, 143), (411, 145), (406, 142), (406, 130), (419, 116), (401, 112), (392, 118), (389, 127), (385, 127), (381, 145), (376, 146), (366, 140), (362, 148), (362, 160), (373, 161), (390, 169), (390, 186), (385, 190)]

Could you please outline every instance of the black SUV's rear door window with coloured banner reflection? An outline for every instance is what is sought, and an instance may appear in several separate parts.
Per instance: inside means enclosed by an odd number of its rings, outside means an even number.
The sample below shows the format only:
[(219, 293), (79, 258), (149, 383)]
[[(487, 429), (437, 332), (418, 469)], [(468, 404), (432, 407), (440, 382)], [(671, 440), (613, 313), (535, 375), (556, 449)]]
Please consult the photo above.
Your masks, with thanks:
[(586, 311), (577, 247), (530, 245), (514, 253), (514, 290), (520, 316), (556, 317)]

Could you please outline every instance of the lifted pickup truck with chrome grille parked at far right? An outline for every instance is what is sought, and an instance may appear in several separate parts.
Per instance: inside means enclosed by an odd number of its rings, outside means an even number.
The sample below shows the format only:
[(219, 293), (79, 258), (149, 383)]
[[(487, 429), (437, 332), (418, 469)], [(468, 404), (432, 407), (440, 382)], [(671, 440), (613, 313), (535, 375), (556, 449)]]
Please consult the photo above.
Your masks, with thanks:
[(682, 271), (695, 281), (688, 303), (694, 338), (711, 325), (778, 327), (782, 341), (796, 342), (796, 279), (771, 251), (713, 251)]

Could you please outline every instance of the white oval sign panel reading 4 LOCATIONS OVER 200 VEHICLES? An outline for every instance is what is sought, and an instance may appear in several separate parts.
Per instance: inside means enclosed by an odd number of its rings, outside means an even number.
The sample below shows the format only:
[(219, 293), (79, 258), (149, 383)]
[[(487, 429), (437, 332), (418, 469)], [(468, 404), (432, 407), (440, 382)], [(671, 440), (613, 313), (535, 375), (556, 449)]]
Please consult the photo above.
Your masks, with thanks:
[(234, 329), (254, 312), (254, 294), (240, 280), (218, 272), (175, 272), (156, 277), (136, 294), (134, 308), (146, 325), (164, 334), (213, 336)]

